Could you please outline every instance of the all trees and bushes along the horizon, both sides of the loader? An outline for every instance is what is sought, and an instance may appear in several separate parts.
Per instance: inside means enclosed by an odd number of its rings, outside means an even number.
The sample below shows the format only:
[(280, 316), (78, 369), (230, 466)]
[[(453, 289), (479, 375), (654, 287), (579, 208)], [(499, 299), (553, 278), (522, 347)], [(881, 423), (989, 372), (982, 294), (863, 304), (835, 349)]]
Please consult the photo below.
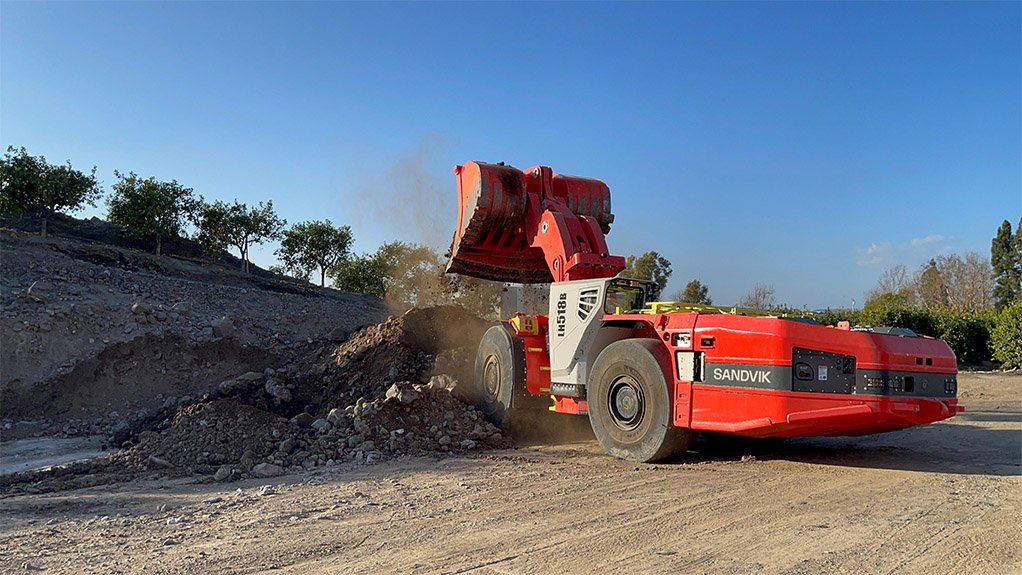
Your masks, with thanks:
[[(306, 281), (317, 276), (324, 287), (329, 278), (333, 287), (373, 294), (392, 306), (458, 303), (496, 317), (506, 290), (501, 283), (445, 274), (446, 256), (423, 245), (396, 241), (356, 255), (347, 226), (324, 220), (288, 227), (272, 200), (251, 206), (237, 200), (206, 201), (175, 180), (141, 178), (133, 172), (114, 176), (106, 199), (107, 220), (151, 241), (157, 255), (165, 240), (186, 237), (191, 225), (192, 239), (211, 254), (236, 250), (244, 272), (249, 270), (252, 246), (279, 240), (275, 253), (280, 265), (271, 267), (272, 272)], [(0, 160), (0, 213), (38, 218), (44, 237), (54, 213), (95, 206), (102, 195), (95, 166), (86, 173), (69, 161), (50, 164), (14, 147)], [(629, 256), (621, 272), (622, 277), (650, 282), (652, 299), (660, 298), (671, 275), (670, 261), (656, 251)], [(536, 292), (536, 299), (545, 297), (544, 288), (526, 287)], [(709, 287), (699, 279), (667, 299), (712, 303)], [(1022, 220), (1014, 231), (1008, 221), (998, 227), (989, 259), (978, 252), (942, 254), (913, 274), (904, 266), (886, 270), (862, 309), (812, 314), (790, 308), (778, 303), (769, 284), (755, 285), (735, 306), (812, 316), (827, 325), (901, 325), (948, 341), (964, 363), (992, 357), (1007, 367), (1022, 367)]]

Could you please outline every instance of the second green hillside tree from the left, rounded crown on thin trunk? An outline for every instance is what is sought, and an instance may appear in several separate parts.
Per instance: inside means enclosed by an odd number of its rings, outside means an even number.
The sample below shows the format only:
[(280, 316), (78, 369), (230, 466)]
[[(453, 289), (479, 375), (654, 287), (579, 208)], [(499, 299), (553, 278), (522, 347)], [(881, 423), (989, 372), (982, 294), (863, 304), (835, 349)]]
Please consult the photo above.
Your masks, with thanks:
[(143, 180), (134, 172), (113, 174), (118, 183), (107, 200), (107, 220), (133, 236), (155, 239), (156, 255), (161, 255), (164, 238), (180, 236), (186, 219), (198, 204), (192, 189), (176, 180)]

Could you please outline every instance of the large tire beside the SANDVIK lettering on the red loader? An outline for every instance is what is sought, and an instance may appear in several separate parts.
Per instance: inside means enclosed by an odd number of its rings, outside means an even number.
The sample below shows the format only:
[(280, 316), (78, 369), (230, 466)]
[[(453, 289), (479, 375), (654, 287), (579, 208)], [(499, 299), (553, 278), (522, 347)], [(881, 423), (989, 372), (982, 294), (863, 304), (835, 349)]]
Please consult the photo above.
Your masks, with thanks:
[(664, 374), (670, 356), (656, 339), (625, 339), (596, 358), (588, 388), (593, 433), (611, 456), (654, 462), (685, 451), (696, 433), (673, 427)]

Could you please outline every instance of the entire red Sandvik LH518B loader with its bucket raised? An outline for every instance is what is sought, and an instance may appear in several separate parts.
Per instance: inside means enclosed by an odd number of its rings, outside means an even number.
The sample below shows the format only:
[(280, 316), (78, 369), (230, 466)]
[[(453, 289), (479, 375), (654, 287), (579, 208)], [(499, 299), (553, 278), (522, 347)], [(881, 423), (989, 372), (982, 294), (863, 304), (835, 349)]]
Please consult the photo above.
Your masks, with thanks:
[(497, 422), (521, 410), (588, 415), (607, 452), (650, 462), (700, 431), (863, 435), (964, 411), (955, 353), (938, 339), (648, 301), (647, 283), (617, 277), (624, 259), (607, 248), (614, 217), (599, 180), (475, 161), (455, 174), (448, 272), (550, 283), (549, 315), (516, 314), (479, 343), (472, 393)]

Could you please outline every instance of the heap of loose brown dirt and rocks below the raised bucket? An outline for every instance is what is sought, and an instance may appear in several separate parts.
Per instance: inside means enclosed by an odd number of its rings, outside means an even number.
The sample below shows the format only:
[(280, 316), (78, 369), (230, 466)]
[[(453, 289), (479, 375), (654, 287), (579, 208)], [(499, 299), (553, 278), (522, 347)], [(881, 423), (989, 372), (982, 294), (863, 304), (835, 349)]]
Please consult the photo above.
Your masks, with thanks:
[(487, 325), (450, 306), (391, 318), (295, 364), (221, 382), (114, 461), (229, 480), (506, 447), (501, 430), (452, 393)]

